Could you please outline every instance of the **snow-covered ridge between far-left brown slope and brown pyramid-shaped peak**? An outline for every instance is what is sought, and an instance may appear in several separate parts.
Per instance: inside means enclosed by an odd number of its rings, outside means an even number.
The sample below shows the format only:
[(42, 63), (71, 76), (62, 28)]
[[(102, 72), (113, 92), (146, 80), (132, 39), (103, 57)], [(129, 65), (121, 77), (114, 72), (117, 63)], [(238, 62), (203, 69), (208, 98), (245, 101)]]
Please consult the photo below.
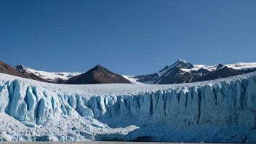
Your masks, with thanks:
[(59, 79), (70, 79), (73, 76), (79, 75), (81, 73), (77, 72), (46, 72), (46, 71), (36, 71), (31, 68), (27, 68), (24, 65), (16, 65), (15, 68), (19, 71), (26, 71), (28, 73), (34, 73), (36, 76), (40, 76), (43, 79), (46, 79), (48, 81), (58, 81)]

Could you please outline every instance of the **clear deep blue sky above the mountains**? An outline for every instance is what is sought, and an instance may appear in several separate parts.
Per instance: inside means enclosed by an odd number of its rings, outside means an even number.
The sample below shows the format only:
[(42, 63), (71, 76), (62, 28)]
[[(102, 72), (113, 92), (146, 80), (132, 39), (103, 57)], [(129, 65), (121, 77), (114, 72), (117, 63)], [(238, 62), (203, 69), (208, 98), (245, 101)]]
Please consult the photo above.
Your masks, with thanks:
[(256, 61), (256, 1), (0, 1), (0, 60), (44, 71), (100, 64), (126, 75), (177, 59)]

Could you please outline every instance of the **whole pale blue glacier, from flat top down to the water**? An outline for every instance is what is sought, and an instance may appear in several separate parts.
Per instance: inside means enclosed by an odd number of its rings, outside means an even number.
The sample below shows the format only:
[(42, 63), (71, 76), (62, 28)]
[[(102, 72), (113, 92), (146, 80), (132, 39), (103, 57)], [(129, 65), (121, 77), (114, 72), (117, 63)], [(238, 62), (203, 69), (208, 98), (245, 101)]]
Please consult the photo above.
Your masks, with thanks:
[(0, 73), (0, 140), (256, 143), (256, 72), (190, 84), (48, 84)]

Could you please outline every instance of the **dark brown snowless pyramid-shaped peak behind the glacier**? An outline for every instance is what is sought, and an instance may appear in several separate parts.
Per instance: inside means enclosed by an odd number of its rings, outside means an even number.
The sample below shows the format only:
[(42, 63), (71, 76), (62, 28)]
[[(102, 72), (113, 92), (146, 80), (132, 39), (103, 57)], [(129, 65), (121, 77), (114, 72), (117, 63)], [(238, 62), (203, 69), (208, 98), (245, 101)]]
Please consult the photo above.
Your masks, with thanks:
[(101, 65), (96, 65), (86, 73), (81, 73), (77, 76), (73, 76), (71, 79), (65, 82), (65, 84), (131, 84), (131, 82), (125, 79), (123, 76), (108, 71)]

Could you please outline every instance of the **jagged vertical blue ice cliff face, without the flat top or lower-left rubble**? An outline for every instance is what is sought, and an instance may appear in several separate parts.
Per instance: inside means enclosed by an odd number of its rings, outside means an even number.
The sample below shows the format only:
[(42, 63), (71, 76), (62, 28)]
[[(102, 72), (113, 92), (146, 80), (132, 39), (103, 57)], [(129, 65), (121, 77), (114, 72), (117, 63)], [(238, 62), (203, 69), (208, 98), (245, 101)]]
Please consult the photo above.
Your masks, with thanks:
[[(90, 116), (109, 127), (136, 125), (140, 129), (113, 140), (204, 140), (185, 131), (233, 135), (207, 135), (209, 142), (256, 142), (256, 76), (201, 86), (176, 87), (137, 95), (71, 95), (57, 89), (33, 87), (20, 81), (0, 84), (0, 111), (20, 122), (44, 125), (74, 113)], [(212, 130), (211, 130), (212, 129)], [(242, 130), (241, 130), (242, 129)], [(175, 135), (174, 133), (179, 135)], [(199, 133), (200, 133), (199, 132)], [(237, 132), (233, 132), (236, 134)], [(155, 135), (155, 136), (154, 136)], [(157, 136), (156, 136), (157, 135)], [(175, 135), (175, 137), (172, 137)], [(172, 138), (170, 138), (172, 137)], [(94, 140), (108, 140), (95, 135)], [(232, 141), (237, 140), (237, 141)]]

